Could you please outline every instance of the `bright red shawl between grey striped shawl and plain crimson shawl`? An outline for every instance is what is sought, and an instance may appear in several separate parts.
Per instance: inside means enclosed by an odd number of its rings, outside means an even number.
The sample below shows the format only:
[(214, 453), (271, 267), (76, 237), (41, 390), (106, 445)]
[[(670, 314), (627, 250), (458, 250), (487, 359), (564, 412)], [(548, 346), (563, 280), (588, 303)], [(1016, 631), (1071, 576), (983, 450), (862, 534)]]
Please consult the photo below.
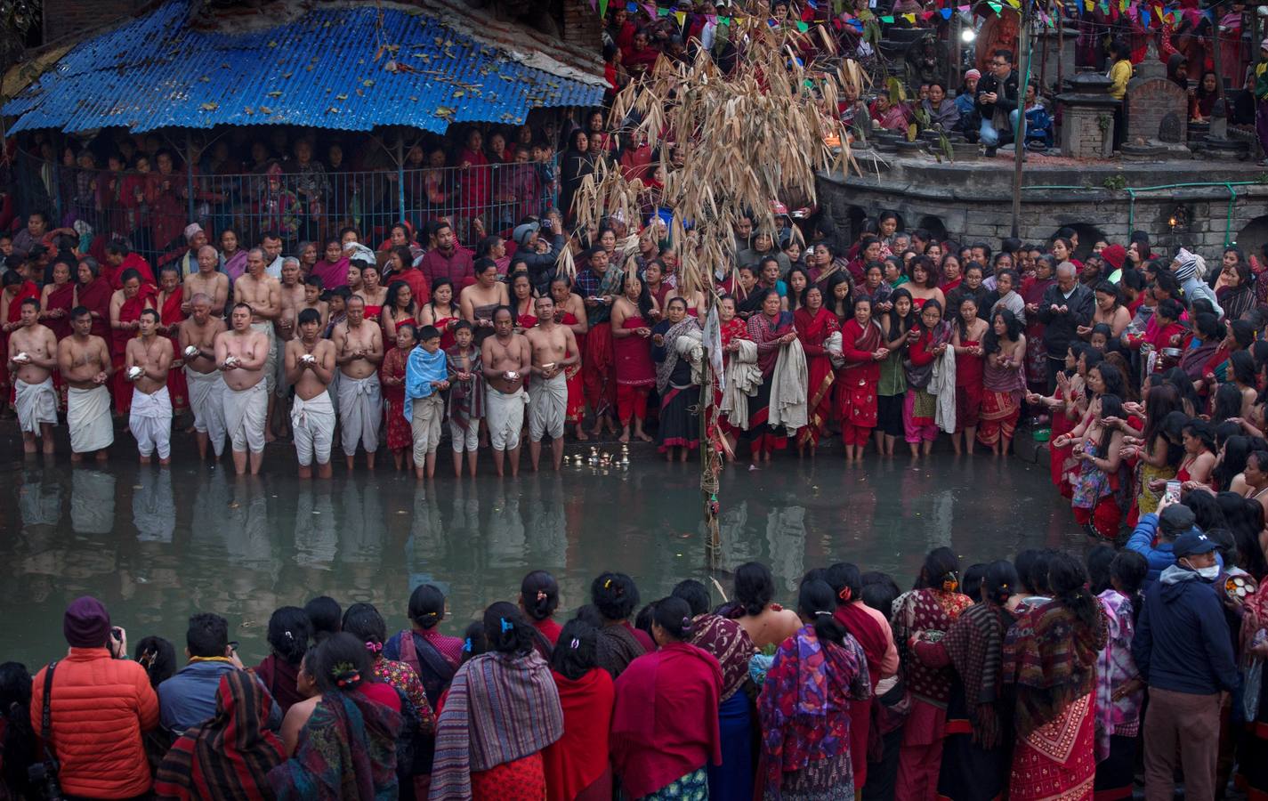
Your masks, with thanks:
[(607, 771), (607, 730), (616, 689), (602, 668), (576, 681), (552, 674), (563, 707), (563, 736), (541, 752), (547, 798), (572, 801)]

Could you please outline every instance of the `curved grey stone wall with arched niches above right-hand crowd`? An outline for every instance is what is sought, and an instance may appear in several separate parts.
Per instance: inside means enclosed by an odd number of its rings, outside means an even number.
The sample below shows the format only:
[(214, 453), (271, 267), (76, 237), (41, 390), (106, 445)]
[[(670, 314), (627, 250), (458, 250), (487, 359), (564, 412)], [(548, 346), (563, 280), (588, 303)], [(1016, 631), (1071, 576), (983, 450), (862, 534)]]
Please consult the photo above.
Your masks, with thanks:
[[(1158, 172), (1149, 166), (1135, 171), (1122, 167), (1103, 171), (1122, 176), (1129, 186), (1255, 177), (1257, 174), (1240, 162), (1234, 163), (1239, 166), (1229, 167), (1227, 175), (1219, 167), (1179, 175)], [(866, 162), (864, 169), (867, 170)], [(1082, 188), (1023, 190), (1018, 236), (1026, 242), (1046, 241), (1063, 226), (1080, 226), (1120, 243), (1127, 242), (1132, 229), (1146, 231), (1167, 250), (1186, 245), (1197, 248), (1207, 260), (1224, 247), (1229, 228), (1229, 190), (1224, 186), (1140, 191), (1132, 212), (1129, 194), (1103, 188), (1104, 179), (1090, 165), (1084, 165), (1082, 170), (1030, 170), (1027, 167), (1025, 185)], [(976, 167), (935, 165), (932, 160), (917, 162), (914, 167), (891, 163), (879, 180), (875, 174), (848, 181), (842, 181), (839, 175), (820, 176), (819, 207), (831, 215), (842, 243), (857, 236), (856, 231), (851, 231), (852, 217), (874, 217), (883, 209), (891, 209), (909, 231), (922, 224), (931, 227), (926, 223), (932, 221), (926, 218), (933, 218), (945, 226), (950, 238), (984, 241), (997, 247), (1000, 240), (1012, 236), (1011, 179), (1011, 163), (1003, 161)], [(1236, 190), (1229, 232), (1232, 240), (1253, 219), (1268, 214), (1268, 184), (1238, 186)], [(1167, 222), (1177, 204), (1184, 204), (1189, 212), (1189, 224), (1173, 234)]]

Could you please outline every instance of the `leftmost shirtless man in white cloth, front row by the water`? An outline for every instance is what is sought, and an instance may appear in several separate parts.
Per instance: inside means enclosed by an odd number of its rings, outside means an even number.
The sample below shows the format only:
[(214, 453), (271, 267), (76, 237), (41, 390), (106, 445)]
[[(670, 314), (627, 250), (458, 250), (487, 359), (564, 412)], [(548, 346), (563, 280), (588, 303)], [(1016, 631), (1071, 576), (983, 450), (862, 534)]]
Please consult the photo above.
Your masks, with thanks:
[(53, 426), (57, 425), (57, 390), (53, 389), (57, 337), (52, 328), (39, 324), (39, 298), (22, 302), (19, 322), (20, 326), (9, 335), (9, 374), (16, 389), (22, 450), (34, 454), (36, 437), (39, 436), (44, 452), (51, 454)]

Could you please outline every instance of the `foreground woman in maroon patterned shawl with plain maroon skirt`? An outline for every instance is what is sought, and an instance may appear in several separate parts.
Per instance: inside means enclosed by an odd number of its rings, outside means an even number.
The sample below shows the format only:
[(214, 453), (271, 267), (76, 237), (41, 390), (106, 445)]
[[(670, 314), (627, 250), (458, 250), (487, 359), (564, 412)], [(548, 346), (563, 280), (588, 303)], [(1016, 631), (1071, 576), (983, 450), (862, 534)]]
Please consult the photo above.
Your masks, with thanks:
[(912, 698), (898, 754), (899, 798), (932, 798), (937, 791), (955, 673), (950, 667), (933, 668), (921, 662), (912, 641), (937, 640), (951, 630), (960, 613), (973, 606), (973, 599), (959, 589), (960, 560), (950, 548), (936, 548), (924, 558), (915, 589), (894, 602), (890, 625)]

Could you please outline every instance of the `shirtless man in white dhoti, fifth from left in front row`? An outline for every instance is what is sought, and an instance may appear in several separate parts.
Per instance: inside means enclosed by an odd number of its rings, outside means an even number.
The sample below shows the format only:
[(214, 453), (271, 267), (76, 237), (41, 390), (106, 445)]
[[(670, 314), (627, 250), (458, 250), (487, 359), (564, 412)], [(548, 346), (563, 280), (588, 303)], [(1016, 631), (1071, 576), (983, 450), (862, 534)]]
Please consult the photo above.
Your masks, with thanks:
[[(262, 269), (262, 257), (260, 266)], [(246, 473), (247, 450), (251, 451), (251, 475), (260, 473), (269, 408), (265, 381), (269, 335), (251, 324), (254, 311), (246, 303), (235, 304), (230, 314), (232, 328), (216, 335), (216, 366), (224, 376), (224, 428), (233, 446), (233, 469), (238, 475)]]

